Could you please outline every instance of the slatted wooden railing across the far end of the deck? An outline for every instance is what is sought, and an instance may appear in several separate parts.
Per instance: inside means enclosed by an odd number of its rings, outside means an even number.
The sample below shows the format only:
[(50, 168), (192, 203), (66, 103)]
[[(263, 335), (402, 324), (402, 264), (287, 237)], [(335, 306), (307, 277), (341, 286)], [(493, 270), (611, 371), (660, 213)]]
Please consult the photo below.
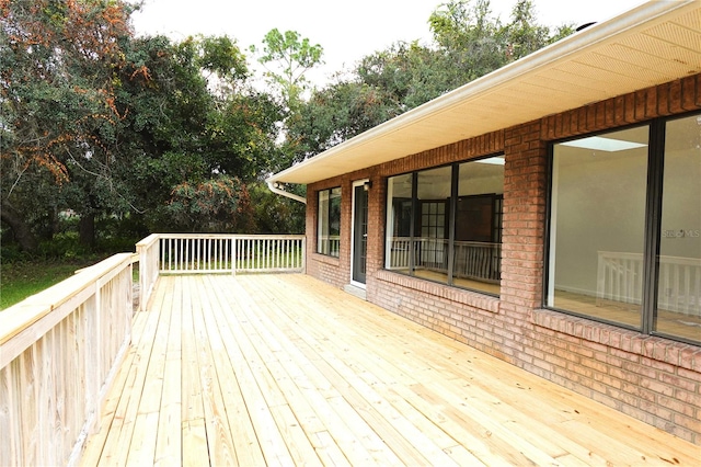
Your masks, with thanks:
[(304, 236), (153, 234), (137, 243), (141, 309), (159, 274), (303, 272)]

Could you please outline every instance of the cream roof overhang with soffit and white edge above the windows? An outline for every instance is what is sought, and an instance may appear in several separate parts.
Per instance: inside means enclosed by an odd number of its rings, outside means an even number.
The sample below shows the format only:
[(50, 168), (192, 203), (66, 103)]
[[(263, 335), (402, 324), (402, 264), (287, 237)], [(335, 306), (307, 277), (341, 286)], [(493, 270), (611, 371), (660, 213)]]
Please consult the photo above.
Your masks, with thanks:
[(699, 72), (701, 1), (648, 1), (268, 181), (318, 182)]

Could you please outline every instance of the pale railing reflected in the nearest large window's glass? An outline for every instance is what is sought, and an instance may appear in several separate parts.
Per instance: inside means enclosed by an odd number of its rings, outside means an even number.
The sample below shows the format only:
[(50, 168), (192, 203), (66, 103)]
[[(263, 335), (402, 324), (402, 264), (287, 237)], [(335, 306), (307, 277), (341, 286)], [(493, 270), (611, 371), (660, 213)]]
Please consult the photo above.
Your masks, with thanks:
[[(643, 255), (599, 251), (597, 303), (640, 305), (643, 296)], [(657, 308), (701, 316), (701, 260), (659, 257)]]

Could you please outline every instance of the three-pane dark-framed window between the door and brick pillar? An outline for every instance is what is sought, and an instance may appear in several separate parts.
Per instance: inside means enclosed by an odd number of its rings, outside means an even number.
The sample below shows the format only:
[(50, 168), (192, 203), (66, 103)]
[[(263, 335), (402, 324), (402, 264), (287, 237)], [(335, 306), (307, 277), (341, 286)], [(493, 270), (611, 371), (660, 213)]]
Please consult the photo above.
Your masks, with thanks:
[(499, 293), (504, 157), (388, 180), (386, 267)]

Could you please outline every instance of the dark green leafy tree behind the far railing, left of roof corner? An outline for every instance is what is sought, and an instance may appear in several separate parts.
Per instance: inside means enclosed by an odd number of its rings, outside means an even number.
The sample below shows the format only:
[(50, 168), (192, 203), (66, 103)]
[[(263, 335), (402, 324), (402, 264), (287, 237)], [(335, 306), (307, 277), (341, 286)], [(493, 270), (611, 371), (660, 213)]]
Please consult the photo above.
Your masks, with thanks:
[[(123, 128), (131, 162), (123, 176), (145, 224), (150, 230), (209, 229), (202, 217), (209, 213), (217, 228), (248, 225), (235, 219), (245, 210), (227, 209), (246, 198), (237, 190), (245, 191), (246, 183), (267, 172), (281, 111), (249, 86), (235, 43), (199, 36), (172, 44), (149, 37), (133, 42), (127, 55), (135, 65), (123, 70), (119, 105), (131, 110)], [(148, 70), (143, 79), (131, 79), (141, 67)], [(218, 190), (222, 186), (230, 189)], [(206, 193), (217, 194), (222, 210), (192, 210), (207, 204)]]

